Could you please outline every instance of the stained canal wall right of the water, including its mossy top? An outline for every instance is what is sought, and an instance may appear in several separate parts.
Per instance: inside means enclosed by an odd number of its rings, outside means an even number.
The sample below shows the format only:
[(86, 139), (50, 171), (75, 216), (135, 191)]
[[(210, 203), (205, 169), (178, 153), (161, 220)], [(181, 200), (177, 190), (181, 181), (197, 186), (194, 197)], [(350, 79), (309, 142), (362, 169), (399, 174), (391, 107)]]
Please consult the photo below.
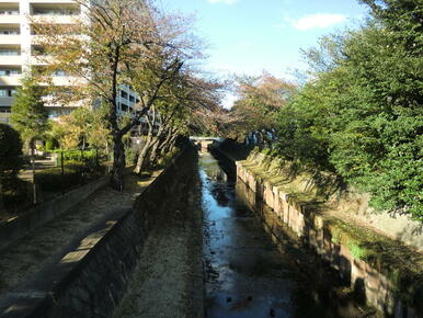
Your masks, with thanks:
[(311, 247), (355, 289), (363, 289), (368, 304), (386, 317), (422, 317), (423, 277), (420, 253), (380, 234), (327, 215), (309, 202), (281, 190), (272, 179), (254, 170), (254, 162), (238, 161), (238, 181), (251, 192), (248, 201), (260, 209), (275, 242), (288, 227)]

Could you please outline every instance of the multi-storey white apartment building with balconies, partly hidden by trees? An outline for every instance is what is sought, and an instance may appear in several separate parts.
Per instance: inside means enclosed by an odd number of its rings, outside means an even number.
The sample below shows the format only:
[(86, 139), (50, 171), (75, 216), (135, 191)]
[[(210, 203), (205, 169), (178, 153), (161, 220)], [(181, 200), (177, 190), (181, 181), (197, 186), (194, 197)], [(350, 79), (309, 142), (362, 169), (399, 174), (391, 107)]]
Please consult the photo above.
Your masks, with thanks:
[[(0, 123), (9, 123), (11, 105), (22, 73), (31, 67), (42, 67), (43, 52), (37, 45), (33, 23), (72, 25), (87, 8), (71, 0), (0, 0)], [(72, 86), (80, 79), (64, 71), (53, 75), (55, 86)], [(117, 98), (118, 113), (133, 112), (137, 96), (129, 87), (122, 87)], [(52, 118), (70, 113), (77, 105), (47, 103)]]

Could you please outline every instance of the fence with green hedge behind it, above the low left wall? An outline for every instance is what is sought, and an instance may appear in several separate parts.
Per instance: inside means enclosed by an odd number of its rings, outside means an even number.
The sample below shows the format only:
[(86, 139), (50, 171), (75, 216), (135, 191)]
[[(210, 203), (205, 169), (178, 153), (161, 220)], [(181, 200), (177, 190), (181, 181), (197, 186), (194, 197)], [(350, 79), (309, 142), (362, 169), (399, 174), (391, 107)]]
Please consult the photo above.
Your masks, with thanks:
[(34, 162), (28, 159), (19, 180), (11, 181), (0, 193), (3, 216), (10, 217), (107, 174), (107, 155), (99, 149), (38, 152)]

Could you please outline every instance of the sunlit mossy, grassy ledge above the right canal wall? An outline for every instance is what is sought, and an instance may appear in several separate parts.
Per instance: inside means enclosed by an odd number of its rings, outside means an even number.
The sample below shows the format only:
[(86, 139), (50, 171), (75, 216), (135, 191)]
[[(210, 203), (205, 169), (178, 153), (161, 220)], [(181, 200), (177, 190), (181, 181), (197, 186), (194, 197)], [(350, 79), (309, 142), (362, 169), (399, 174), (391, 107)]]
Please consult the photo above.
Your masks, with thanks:
[(281, 166), (278, 158), (255, 154), (240, 163), (261, 182), (270, 182), (273, 186), (277, 186), (279, 192), (289, 194), (290, 203), (305, 206), (310, 218), (317, 213), (321, 215), (324, 226), (331, 234), (332, 242), (347, 247), (354, 259), (365, 261), (386, 275), (404, 304), (415, 303), (423, 295), (421, 253), (369, 228), (324, 214), (330, 209), (325, 206), (327, 197), (319, 195), (312, 188), (305, 191), (304, 183), (307, 178), (311, 178), (310, 174), (302, 173), (300, 178), (298, 175), (291, 178), (287, 173), (282, 173), (283, 169), (278, 169)]

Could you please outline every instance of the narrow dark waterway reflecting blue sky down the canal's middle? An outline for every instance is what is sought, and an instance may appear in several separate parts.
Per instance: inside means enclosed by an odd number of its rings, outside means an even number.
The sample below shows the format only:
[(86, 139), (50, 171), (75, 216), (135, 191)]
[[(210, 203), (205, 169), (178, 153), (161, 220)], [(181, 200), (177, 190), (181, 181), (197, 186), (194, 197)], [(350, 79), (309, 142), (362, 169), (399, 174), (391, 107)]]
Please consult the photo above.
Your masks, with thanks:
[[(248, 189), (233, 175), (228, 178), (208, 152), (201, 154), (199, 175), (206, 317), (368, 317), (350, 300), (340, 304), (333, 291), (321, 286), (318, 281), (338, 287), (339, 282), (311, 255), (298, 258), (301, 251), (295, 242), (287, 239), (283, 250), (276, 248), (252, 211)], [(316, 282), (304, 273), (315, 265)]]

